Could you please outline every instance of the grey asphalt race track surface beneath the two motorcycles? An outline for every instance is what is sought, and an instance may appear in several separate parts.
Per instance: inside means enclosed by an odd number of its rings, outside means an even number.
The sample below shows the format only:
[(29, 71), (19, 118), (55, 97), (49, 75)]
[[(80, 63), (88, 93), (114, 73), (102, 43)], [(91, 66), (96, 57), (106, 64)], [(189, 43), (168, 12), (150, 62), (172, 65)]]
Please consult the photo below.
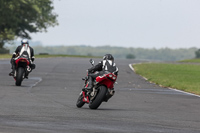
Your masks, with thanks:
[(75, 105), (89, 59), (36, 59), (21, 87), (0, 60), (0, 133), (200, 133), (200, 98), (148, 83), (129, 68), (139, 62), (116, 60), (115, 95), (90, 110)]

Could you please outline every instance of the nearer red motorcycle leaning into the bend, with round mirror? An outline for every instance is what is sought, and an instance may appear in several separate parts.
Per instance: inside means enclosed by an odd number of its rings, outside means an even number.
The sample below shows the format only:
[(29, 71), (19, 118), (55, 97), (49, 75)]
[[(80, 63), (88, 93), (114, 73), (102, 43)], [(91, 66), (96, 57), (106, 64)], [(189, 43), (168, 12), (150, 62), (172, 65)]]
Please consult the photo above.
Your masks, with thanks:
[[(90, 59), (90, 63), (94, 66), (94, 60)], [(85, 81), (84, 88), (86, 88), (88, 86), (88, 76), (82, 80)], [(91, 90), (81, 91), (76, 106), (81, 108), (86, 103), (89, 104), (90, 109), (97, 109), (102, 102), (107, 102), (114, 95), (116, 80), (117, 75), (107, 71), (105, 71), (105, 74), (97, 76)]]

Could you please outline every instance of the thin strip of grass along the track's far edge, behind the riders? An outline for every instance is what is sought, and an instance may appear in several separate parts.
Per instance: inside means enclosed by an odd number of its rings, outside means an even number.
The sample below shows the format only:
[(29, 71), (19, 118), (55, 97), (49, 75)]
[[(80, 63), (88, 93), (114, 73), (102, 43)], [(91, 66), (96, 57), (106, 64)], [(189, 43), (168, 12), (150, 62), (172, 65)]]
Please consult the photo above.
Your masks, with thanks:
[[(9, 59), (11, 54), (0, 54), (0, 59)], [(35, 58), (50, 58), (50, 57), (80, 57), (80, 58), (102, 58), (98, 56), (84, 56), (84, 55), (35, 55)]]

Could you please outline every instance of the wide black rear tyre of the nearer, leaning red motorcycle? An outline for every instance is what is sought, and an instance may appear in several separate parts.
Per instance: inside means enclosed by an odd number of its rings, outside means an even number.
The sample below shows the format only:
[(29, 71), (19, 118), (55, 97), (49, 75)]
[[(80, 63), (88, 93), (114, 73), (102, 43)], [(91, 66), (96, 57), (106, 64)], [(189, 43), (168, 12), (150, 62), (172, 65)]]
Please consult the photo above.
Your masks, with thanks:
[(107, 88), (105, 86), (100, 86), (98, 93), (93, 101), (90, 101), (89, 107), (90, 109), (97, 109), (101, 103), (103, 102), (106, 96)]

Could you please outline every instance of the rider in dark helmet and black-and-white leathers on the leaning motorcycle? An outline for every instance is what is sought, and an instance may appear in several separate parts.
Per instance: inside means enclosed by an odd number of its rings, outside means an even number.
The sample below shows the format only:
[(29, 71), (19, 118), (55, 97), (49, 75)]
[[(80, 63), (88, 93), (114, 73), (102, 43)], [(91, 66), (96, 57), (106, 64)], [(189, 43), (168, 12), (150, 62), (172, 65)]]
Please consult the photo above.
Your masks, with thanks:
[[(94, 72), (98, 71), (98, 73), (94, 74)], [(83, 90), (90, 90), (93, 87), (93, 80), (96, 79), (97, 76), (103, 75), (106, 72), (113, 73), (116, 76), (118, 75), (118, 68), (114, 63), (114, 57), (111, 54), (106, 54), (103, 56), (103, 61), (100, 61), (97, 65), (88, 69), (88, 81), (89, 84)]]

